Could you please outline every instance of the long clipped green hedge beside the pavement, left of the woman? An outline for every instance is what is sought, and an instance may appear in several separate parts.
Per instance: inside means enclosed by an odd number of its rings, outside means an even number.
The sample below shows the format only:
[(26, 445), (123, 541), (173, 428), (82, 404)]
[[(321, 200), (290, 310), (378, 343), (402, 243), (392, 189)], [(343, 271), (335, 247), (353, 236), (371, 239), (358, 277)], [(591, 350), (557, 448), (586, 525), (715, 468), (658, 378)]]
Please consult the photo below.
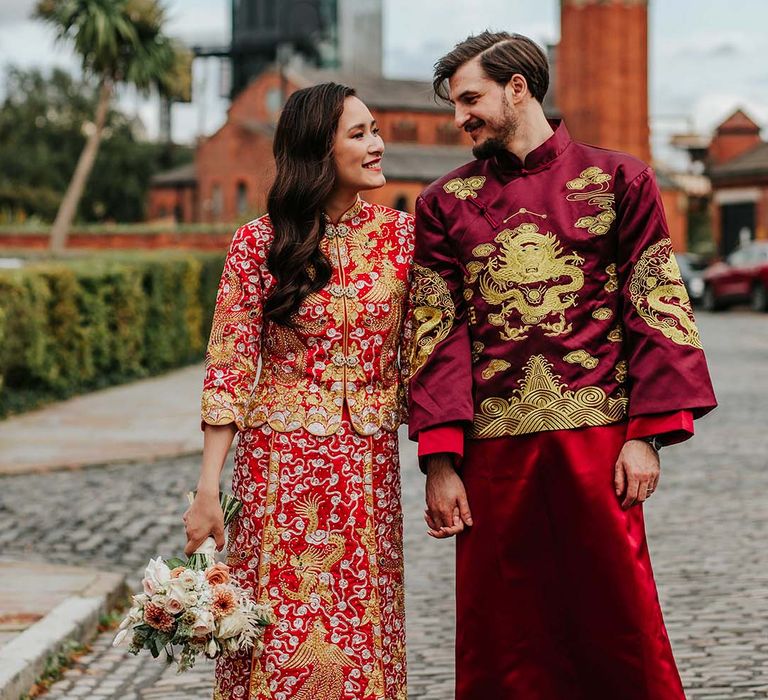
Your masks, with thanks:
[(0, 416), (202, 358), (223, 255), (102, 255), (0, 270)]

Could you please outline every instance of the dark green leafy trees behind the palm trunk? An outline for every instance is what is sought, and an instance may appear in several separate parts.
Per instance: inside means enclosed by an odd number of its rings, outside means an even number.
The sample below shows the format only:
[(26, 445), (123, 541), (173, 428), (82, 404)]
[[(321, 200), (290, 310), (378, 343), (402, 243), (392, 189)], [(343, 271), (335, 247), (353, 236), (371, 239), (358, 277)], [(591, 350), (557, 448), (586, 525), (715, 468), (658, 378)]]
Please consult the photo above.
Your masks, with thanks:
[[(0, 223), (53, 220), (97, 101), (93, 85), (62, 70), (8, 69), (0, 104)], [(141, 221), (152, 175), (191, 160), (191, 149), (142, 142), (136, 131), (135, 120), (110, 111), (80, 203), (82, 220)]]

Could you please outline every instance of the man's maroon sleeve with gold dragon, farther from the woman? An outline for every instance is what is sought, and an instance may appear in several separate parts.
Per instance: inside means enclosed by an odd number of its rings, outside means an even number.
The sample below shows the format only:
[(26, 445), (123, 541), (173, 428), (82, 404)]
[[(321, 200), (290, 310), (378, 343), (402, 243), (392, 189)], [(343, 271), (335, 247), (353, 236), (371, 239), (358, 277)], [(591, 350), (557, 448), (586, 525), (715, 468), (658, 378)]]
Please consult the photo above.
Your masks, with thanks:
[(716, 400), (650, 168), (627, 186), (617, 230), (630, 418), (702, 416)]

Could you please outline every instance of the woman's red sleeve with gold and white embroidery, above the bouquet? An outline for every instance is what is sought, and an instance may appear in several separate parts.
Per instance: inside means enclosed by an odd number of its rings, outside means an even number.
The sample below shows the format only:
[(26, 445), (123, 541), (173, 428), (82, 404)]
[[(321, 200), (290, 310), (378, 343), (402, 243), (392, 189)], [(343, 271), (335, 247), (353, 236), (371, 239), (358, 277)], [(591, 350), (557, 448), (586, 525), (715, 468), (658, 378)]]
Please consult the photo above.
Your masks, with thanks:
[(262, 252), (250, 225), (237, 230), (224, 263), (205, 358), (202, 423), (246, 424), (262, 330)]

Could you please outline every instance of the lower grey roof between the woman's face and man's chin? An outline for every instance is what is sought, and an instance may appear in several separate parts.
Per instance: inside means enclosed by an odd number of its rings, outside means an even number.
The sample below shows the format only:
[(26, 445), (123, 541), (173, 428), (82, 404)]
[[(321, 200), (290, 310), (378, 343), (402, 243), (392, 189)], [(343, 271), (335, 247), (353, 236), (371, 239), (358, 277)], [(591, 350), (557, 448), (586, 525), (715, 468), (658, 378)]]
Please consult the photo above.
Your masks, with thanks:
[(467, 146), (420, 146), (391, 143), (384, 151), (384, 175), (388, 180), (429, 183), (473, 159)]

